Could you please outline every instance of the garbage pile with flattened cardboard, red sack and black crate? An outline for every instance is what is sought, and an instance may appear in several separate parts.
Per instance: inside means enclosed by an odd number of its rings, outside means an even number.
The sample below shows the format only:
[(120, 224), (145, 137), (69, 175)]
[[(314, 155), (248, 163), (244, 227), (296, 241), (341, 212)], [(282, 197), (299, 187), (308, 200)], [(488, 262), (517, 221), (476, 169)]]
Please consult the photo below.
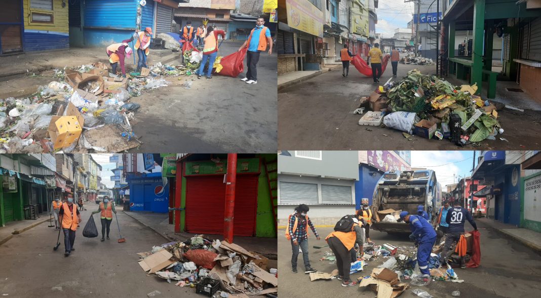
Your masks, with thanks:
[(268, 259), (227, 241), (196, 235), (138, 255), (148, 274), (208, 297), (278, 293), (278, 270), (267, 270)]

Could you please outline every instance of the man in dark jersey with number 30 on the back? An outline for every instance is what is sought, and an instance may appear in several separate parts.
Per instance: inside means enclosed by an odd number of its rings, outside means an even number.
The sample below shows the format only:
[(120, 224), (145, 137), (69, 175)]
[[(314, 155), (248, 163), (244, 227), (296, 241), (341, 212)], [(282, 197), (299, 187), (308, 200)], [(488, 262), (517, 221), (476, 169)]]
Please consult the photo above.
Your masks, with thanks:
[[(460, 240), (460, 235), (464, 234), (464, 223), (468, 220), (472, 227), (477, 231), (477, 224), (473, 221), (470, 212), (460, 206), (460, 201), (454, 202), (454, 208), (447, 211), (445, 222), (449, 225), (447, 236), (445, 237), (445, 246), (441, 252), (441, 264), (447, 263), (447, 258), (453, 254), (451, 246), (453, 242)], [(466, 268), (464, 257), (460, 258), (460, 268)]]

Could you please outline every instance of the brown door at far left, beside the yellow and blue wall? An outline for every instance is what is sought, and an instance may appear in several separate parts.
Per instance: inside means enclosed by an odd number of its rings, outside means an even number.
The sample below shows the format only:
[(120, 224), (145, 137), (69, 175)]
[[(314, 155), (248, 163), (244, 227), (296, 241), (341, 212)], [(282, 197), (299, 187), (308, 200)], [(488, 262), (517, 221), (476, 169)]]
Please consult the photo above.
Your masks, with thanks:
[(4, 0), (0, 9), (0, 55), (23, 51), (22, 0)]

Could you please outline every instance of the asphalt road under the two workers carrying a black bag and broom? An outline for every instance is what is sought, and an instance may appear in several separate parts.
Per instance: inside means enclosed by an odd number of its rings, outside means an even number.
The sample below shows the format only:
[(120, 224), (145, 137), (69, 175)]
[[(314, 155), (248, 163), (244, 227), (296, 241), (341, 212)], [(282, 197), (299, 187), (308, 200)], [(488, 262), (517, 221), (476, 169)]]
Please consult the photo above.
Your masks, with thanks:
[[(122, 236), (118, 243), (116, 222), (111, 224), (110, 240), (100, 236), (85, 238), (82, 230), (90, 212), (82, 212), (83, 222), (75, 237), (76, 250), (64, 257), (64, 242), (57, 251), (57, 231), (48, 222), (14, 235), (0, 246), (0, 295), (6, 297), (147, 297), (159, 290), (159, 297), (201, 297), (195, 289), (175, 287), (156, 276), (147, 276), (137, 263), (138, 255), (154, 245), (167, 243), (162, 236), (118, 211)], [(97, 209), (97, 208), (96, 208)], [(99, 214), (94, 215), (101, 233)]]

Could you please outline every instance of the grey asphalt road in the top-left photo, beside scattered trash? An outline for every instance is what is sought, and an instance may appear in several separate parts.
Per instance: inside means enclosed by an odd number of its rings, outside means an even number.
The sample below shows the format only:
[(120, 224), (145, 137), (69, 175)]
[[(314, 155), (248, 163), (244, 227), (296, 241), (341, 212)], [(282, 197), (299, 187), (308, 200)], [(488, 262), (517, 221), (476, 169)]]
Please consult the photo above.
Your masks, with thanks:
[[(219, 55), (229, 55), (241, 43), (225, 41)], [(175, 64), (175, 63), (171, 63)], [(276, 54), (262, 53), (258, 84), (240, 78), (196, 75), (167, 78), (169, 87), (131, 98), (141, 104), (134, 132), (143, 144), (138, 152), (274, 152), (278, 138)], [(184, 89), (187, 79), (192, 87)]]

